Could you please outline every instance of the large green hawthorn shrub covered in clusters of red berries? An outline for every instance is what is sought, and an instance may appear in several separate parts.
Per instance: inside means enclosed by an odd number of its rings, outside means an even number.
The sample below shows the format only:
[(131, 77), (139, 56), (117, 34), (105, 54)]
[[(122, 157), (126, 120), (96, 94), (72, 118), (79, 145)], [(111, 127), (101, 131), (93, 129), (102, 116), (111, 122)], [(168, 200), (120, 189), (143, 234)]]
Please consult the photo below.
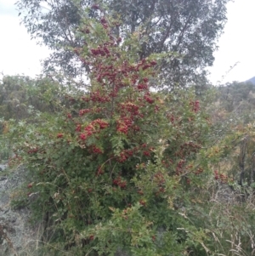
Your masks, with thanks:
[(206, 255), (207, 234), (186, 210), (189, 191), (211, 177), (208, 117), (190, 91), (153, 92), (166, 54), (139, 60), (139, 33), (122, 42), (117, 27), (84, 19), (73, 51), (90, 87), (10, 128), (9, 164), (30, 171), (23, 196), (44, 220), (50, 255)]

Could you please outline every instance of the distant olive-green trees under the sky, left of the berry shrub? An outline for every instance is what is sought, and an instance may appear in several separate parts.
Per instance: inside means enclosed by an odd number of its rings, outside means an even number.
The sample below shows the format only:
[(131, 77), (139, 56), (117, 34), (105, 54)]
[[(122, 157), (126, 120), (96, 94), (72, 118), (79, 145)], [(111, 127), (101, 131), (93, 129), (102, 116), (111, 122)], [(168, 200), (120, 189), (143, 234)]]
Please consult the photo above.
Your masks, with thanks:
[(0, 81), (0, 116), (5, 121), (20, 121), (29, 117), (29, 107), (53, 112), (55, 103), (63, 101), (60, 90), (63, 91), (62, 86), (49, 77), (5, 76)]

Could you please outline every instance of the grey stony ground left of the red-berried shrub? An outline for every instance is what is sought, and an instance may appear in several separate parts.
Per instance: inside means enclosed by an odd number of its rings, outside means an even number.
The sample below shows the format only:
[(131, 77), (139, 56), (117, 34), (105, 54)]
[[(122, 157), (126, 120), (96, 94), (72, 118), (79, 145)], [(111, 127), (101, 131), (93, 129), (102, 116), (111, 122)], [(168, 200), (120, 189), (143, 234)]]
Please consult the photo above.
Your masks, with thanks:
[(26, 170), (7, 171), (6, 165), (0, 168), (0, 256), (35, 255), (40, 225), (31, 227), (25, 206), (11, 207), (12, 196), (26, 181)]

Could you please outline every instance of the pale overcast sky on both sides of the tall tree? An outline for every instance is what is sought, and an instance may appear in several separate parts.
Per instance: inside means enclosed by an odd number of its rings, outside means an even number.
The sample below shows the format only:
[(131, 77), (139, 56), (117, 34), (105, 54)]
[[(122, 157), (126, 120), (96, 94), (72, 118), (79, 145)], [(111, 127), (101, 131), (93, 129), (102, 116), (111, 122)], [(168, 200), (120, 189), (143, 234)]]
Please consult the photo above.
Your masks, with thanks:
[[(50, 51), (31, 40), (20, 25), (16, 1), (0, 0), (0, 73), (35, 77), (42, 69), (40, 60)], [(218, 40), (214, 65), (208, 68), (214, 84), (255, 77), (255, 0), (235, 0), (227, 9), (228, 22)]]

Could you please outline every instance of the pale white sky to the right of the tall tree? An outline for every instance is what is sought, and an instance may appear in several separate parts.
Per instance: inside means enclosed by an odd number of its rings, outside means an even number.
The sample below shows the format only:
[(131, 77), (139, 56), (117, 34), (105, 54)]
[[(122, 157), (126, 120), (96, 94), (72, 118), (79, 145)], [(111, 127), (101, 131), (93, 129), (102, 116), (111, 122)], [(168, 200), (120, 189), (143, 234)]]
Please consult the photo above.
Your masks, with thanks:
[(235, 0), (227, 8), (228, 22), (218, 40), (214, 64), (208, 69), (213, 83), (255, 77), (255, 0)]

